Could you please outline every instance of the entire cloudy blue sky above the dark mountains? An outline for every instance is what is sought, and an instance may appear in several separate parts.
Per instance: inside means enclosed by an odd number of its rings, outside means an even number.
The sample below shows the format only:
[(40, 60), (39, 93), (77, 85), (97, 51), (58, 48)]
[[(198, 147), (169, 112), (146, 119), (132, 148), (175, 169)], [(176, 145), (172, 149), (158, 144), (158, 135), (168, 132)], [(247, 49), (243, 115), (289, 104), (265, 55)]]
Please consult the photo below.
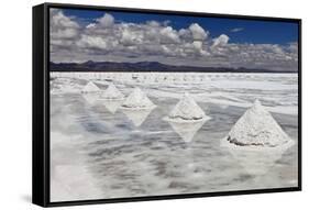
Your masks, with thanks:
[(55, 63), (298, 69), (298, 24), (227, 18), (51, 9)]

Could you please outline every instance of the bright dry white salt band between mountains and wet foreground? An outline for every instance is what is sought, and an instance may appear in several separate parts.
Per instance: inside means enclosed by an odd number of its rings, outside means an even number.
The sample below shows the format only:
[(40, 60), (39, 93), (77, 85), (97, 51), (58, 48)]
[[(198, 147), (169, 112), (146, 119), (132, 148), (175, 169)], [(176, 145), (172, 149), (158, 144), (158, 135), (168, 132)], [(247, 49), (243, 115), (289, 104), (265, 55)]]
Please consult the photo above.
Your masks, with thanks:
[[(130, 88), (141, 87), (150, 97), (180, 99), (185, 91), (197, 102), (251, 107), (258, 98), (272, 112), (298, 113), (297, 74), (197, 74), (197, 73), (52, 73), (52, 93), (78, 92), (82, 79), (108, 86), (111, 81)], [(74, 78), (67, 81), (68, 78)], [(82, 78), (82, 79), (80, 79)], [(73, 82), (75, 80), (77, 82)], [(81, 84), (80, 84), (81, 82)], [(159, 88), (158, 88), (159, 87)], [(179, 91), (178, 91), (179, 90)]]

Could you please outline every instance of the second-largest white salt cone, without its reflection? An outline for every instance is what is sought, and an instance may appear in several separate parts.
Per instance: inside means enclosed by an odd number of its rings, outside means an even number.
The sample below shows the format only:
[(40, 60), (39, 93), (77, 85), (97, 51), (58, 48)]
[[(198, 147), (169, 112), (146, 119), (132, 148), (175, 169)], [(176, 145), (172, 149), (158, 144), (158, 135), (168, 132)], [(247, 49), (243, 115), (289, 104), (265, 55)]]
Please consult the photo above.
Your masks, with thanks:
[(170, 120), (200, 121), (206, 118), (202, 109), (196, 103), (195, 99), (185, 93), (180, 101), (175, 106), (168, 115)]

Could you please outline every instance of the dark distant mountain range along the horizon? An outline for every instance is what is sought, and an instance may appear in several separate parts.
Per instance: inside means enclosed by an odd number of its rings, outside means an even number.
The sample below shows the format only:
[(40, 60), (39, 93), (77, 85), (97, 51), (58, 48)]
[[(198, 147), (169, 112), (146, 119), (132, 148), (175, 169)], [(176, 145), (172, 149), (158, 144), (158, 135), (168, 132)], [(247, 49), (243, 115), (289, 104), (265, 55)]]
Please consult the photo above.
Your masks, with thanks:
[(53, 63), (52, 71), (196, 71), (196, 73), (295, 73), (269, 69), (253, 68), (227, 68), (227, 67), (198, 67), (198, 66), (175, 66), (158, 62), (139, 63), (115, 63), (115, 62), (92, 62), (85, 63)]

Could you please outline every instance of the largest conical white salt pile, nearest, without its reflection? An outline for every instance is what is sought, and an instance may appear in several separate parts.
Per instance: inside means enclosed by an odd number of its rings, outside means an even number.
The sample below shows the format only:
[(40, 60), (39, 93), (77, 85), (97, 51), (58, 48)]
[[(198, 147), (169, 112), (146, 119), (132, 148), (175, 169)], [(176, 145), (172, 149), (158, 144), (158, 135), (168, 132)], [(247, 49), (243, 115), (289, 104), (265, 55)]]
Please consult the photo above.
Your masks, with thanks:
[(240, 146), (278, 146), (290, 141), (272, 114), (254, 101), (230, 131), (227, 140)]

